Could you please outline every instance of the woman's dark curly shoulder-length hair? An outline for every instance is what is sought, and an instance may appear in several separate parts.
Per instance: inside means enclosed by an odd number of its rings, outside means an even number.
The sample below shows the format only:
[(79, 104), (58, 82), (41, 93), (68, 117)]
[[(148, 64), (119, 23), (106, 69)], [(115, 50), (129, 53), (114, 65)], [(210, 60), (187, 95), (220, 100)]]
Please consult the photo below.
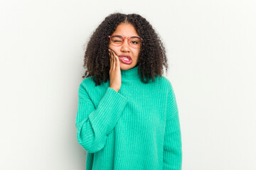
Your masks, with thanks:
[(110, 79), (110, 55), (108, 51), (109, 38), (120, 23), (131, 23), (138, 35), (142, 38), (139, 52), (138, 67), (139, 77), (145, 84), (155, 81), (154, 77), (163, 75), (163, 66), (168, 70), (166, 50), (159, 35), (151, 24), (139, 14), (112, 13), (92, 33), (85, 50), (83, 67), (87, 71), (83, 79), (92, 77), (95, 86)]

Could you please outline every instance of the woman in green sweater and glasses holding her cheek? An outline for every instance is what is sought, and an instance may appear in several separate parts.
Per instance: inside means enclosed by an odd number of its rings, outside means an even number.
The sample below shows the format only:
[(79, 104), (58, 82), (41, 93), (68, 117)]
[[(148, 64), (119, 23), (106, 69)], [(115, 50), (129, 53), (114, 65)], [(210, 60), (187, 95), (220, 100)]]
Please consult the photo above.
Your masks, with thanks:
[(181, 169), (181, 130), (164, 46), (138, 14), (112, 13), (92, 34), (78, 91), (86, 169)]

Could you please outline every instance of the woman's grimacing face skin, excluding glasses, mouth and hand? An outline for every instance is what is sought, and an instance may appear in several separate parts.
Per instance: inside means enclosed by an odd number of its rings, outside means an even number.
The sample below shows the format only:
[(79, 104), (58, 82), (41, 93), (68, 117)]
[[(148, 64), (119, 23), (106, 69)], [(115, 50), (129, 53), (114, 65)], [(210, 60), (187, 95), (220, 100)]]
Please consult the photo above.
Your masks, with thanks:
[[(131, 23), (120, 23), (112, 35), (122, 35), (123, 37), (138, 36), (137, 31)], [(120, 69), (132, 69), (136, 66), (139, 58), (140, 46), (138, 48), (130, 47), (127, 38), (124, 39), (124, 43), (121, 46), (114, 46), (110, 41), (109, 48), (113, 50), (119, 58)], [(126, 64), (123, 62), (122, 55), (131, 57), (132, 63)]]

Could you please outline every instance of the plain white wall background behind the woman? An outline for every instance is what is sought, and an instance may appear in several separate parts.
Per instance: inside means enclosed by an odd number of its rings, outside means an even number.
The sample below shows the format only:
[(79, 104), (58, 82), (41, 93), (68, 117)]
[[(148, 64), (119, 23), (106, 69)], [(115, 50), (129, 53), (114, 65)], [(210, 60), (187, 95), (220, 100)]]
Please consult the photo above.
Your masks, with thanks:
[(256, 1), (0, 3), (0, 169), (85, 169), (75, 129), (84, 48), (113, 12), (139, 13), (164, 42), (183, 169), (256, 169)]

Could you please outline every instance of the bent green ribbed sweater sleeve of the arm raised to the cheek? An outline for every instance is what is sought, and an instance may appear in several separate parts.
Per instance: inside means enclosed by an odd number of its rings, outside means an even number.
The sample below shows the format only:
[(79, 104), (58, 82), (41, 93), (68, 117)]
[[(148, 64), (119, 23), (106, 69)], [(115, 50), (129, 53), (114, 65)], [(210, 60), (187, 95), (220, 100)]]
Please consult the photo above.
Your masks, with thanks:
[(85, 86), (80, 84), (75, 126), (78, 142), (87, 152), (98, 152), (105, 146), (107, 135), (113, 130), (127, 102), (122, 94), (108, 87), (95, 108)]

